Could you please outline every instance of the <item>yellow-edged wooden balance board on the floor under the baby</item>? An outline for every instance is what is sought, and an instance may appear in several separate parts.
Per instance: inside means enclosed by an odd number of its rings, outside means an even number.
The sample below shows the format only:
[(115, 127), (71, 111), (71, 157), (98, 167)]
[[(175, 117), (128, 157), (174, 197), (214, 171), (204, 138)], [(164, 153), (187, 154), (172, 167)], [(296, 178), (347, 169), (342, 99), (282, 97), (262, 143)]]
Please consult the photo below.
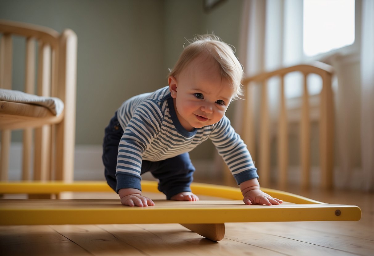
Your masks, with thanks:
[[(157, 182), (142, 181), (143, 191), (157, 193)], [(1, 199), (0, 225), (180, 223), (213, 241), (224, 237), (225, 222), (358, 221), (361, 209), (332, 205), (279, 190), (261, 188), (281, 205), (245, 205), (238, 188), (193, 183), (193, 193), (230, 200), (181, 202), (153, 200), (154, 206), (123, 206), (107, 199)], [(59, 194), (65, 191), (111, 191), (105, 182), (0, 182), (0, 194)]]

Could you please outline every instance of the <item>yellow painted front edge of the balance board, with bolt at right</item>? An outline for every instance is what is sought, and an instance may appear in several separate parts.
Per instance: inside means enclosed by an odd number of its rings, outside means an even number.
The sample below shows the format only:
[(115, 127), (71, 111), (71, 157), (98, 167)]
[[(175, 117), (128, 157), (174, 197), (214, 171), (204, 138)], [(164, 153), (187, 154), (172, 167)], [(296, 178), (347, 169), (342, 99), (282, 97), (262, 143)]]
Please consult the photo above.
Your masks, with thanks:
[[(336, 211), (340, 215), (336, 215)], [(0, 209), (0, 225), (59, 224), (210, 224), (273, 221), (358, 221), (361, 209), (347, 205), (243, 206), (240, 209), (113, 207), (74, 209)]]

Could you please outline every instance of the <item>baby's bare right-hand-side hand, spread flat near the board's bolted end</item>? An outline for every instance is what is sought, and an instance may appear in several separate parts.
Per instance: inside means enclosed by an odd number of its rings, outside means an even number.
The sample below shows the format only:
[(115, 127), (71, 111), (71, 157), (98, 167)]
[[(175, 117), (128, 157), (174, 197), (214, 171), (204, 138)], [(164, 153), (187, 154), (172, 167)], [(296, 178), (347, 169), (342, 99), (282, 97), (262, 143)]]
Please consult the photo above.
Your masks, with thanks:
[(246, 205), (279, 205), (279, 203), (283, 203), (282, 200), (271, 197), (261, 191), (260, 184), (256, 178), (240, 183), (240, 190), (244, 197), (243, 202)]

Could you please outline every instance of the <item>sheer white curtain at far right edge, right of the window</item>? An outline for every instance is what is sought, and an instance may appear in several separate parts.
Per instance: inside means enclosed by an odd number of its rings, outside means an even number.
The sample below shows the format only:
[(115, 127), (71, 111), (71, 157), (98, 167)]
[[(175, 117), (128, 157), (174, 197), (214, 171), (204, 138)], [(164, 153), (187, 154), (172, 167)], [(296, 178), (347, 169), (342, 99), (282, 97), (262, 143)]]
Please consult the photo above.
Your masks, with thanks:
[(363, 185), (374, 192), (374, 1), (362, 1), (361, 154)]

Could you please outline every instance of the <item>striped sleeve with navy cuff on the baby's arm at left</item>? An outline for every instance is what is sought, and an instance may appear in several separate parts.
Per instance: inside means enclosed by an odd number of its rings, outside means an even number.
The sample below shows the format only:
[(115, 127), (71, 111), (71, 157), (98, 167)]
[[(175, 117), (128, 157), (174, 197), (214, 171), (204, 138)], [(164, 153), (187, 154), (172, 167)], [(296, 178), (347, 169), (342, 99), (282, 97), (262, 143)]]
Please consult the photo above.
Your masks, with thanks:
[(134, 112), (126, 126), (118, 147), (117, 189), (141, 190), (142, 155), (160, 131), (163, 112), (154, 100), (145, 100)]

